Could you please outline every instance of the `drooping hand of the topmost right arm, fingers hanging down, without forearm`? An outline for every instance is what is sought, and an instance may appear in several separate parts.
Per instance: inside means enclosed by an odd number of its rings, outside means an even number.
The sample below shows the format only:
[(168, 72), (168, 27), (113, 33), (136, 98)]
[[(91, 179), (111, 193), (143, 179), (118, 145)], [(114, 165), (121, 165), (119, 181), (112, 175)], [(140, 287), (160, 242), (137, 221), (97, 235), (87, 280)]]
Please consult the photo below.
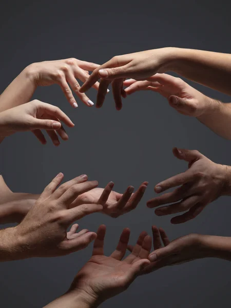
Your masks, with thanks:
[(87, 91), (99, 78), (100, 87), (97, 107), (103, 105), (108, 85), (112, 82), (112, 92), (117, 110), (122, 108), (121, 95), (125, 96), (123, 81), (126, 78), (146, 79), (153, 74), (170, 69), (174, 60), (172, 48), (160, 48), (136, 53), (114, 56), (111, 60), (96, 68), (83, 84), (80, 92)]

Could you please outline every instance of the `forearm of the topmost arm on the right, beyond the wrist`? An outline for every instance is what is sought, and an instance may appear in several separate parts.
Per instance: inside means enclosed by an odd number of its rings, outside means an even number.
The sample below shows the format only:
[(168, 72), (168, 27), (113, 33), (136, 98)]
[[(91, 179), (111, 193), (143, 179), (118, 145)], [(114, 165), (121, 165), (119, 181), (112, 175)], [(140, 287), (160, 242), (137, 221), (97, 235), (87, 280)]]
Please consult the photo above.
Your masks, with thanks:
[(231, 94), (231, 54), (169, 48), (169, 59), (166, 59), (169, 70), (209, 88)]

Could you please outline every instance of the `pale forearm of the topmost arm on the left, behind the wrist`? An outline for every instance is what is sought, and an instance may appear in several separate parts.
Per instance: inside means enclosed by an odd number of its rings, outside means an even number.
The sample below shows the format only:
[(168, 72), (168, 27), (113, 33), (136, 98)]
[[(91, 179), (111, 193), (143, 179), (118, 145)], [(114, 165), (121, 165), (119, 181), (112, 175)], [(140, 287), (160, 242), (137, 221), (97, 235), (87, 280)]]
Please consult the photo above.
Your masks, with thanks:
[(33, 67), (26, 67), (0, 95), (0, 112), (30, 101), (36, 83)]

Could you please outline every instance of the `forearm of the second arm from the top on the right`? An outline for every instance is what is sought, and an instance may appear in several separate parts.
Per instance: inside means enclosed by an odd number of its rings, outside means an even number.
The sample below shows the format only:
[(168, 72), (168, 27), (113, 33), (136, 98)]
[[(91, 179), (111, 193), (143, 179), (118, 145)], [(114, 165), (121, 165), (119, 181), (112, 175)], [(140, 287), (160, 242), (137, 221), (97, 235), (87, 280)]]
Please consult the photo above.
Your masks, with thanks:
[(197, 119), (219, 136), (231, 140), (231, 103), (207, 98), (207, 109)]

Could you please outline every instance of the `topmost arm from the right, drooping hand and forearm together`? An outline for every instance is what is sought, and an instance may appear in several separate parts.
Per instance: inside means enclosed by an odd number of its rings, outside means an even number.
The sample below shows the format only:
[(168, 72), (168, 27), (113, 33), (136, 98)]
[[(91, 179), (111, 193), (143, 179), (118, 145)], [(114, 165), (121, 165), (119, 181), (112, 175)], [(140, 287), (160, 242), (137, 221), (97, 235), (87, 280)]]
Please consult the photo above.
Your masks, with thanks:
[(115, 106), (120, 110), (121, 96), (126, 97), (123, 90), (125, 79), (146, 80), (156, 73), (173, 71), (189, 80), (231, 94), (230, 63), (230, 54), (172, 47), (119, 55), (95, 69), (80, 92), (86, 92), (101, 78), (97, 107), (103, 105), (106, 89), (112, 83)]

